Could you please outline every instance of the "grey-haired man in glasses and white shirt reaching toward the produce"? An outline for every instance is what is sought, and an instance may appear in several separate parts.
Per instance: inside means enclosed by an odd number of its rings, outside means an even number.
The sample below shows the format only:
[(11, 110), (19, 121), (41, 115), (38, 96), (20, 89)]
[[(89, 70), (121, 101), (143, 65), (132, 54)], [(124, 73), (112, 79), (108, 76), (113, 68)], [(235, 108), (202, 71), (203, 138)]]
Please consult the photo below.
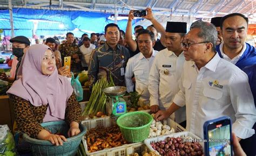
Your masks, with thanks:
[[(169, 117), (186, 104), (186, 129), (200, 138), (207, 120), (229, 116), (232, 131), (245, 139), (254, 134), (256, 119), (253, 96), (247, 75), (215, 52), (217, 31), (214, 25), (198, 20), (191, 25), (181, 45), (184, 70), (180, 91), (167, 111), (158, 111), (157, 120)], [(191, 60), (191, 61), (190, 61)]]

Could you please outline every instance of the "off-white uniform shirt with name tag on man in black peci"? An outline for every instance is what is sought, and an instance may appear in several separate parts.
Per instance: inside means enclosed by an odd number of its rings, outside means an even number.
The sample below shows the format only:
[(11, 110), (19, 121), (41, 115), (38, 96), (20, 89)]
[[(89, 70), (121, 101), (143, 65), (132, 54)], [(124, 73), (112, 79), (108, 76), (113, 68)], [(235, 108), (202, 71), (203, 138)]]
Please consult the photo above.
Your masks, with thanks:
[[(156, 55), (149, 76), (150, 105), (159, 105), (160, 110), (170, 107), (174, 96), (179, 91), (184, 61), (183, 53), (177, 57), (167, 48)], [(167, 74), (166, 71), (169, 73)], [(186, 107), (175, 112), (175, 119), (177, 123), (186, 120)]]

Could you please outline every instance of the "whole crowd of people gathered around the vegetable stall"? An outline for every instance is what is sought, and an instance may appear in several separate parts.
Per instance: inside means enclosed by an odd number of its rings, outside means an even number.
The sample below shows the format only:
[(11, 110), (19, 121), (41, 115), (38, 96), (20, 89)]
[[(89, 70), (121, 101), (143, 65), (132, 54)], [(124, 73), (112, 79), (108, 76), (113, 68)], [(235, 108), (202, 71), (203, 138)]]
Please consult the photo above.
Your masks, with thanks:
[[(70, 73), (63, 60), (71, 56), (72, 72), (88, 70), (90, 89), (101, 77), (108, 80), (112, 77), (116, 86), (126, 86), (127, 92), (142, 94), (157, 120), (171, 116), (201, 138), (206, 120), (229, 116), (235, 140), (241, 140), (247, 155), (256, 155), (256, 49), (245, 42), (248, 18), (231, 13), (212, 18), (211, 23), (197, 20), (187, 32), (187, 23), (167, 22), (164, 28), (150, 8), (146, 11), (143, 18), (152, 25), (146, 29), (140, 25), (134, 27), (135, 40), (132, 10), (125, 31), (111, 23), (105, 26), (102, 36), (91, 33), (89, 38), (83, 34), (76, 41), (73, 33), (67, 33), (66, 41), (60, 45), (54, 38), (46, 39), (45, 45), (33, 46), (29, 46), (26, 37), (11, 39), (17, 58), (16, 65), (15, 62), (12, 65), (15, 74), (8, 77), (2, 73), (0, 79), (17, 80), (8, 94), (14, 99), (19, 129), (61, 144), (60, 140), (65, 138), (50, 136), (38, 123), (66, 119), (72, 124), (72, 135), (79, 133), (80, 112), (70, 111), (71, 105), (78, 107), (77, 101), (64, 80)], [(36, 74), (29, 74), (30, 71)], [(41, 79), (46, 86), (38, 84)], [(65, 96), (60, 97), (61, 94)], [(62, 103), (56, 105), (59, 99)], [(68, 103), (66, 109), (59, 109), (64, 103)], [(35, 107), (43, 111), (35, 115)], [(24, 116), (22, 109), (29, 113)], [(63, 111), (68, 111), (68, 116)]]

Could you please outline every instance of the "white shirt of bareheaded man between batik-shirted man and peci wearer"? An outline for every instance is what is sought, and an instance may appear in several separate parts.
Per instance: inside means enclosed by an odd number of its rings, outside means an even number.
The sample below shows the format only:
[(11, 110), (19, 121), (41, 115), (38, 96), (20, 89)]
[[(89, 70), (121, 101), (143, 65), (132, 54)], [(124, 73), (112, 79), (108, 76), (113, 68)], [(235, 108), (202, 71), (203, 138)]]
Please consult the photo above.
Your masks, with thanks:
[(153, 50), (149, 60), (142, 53), (138, 53), (128, 60), (125, 69), (125, 83), (128, 93), (133, 91), (134, 83), (132, 82), (132, 76), (134, 75), (136, 81), (135, 90), (139, 94), (143, 91), (141, 97), (149, 100), (149, 90), (147, 89), (149, 85), (149, 72), (157, 53), (158, 51)]

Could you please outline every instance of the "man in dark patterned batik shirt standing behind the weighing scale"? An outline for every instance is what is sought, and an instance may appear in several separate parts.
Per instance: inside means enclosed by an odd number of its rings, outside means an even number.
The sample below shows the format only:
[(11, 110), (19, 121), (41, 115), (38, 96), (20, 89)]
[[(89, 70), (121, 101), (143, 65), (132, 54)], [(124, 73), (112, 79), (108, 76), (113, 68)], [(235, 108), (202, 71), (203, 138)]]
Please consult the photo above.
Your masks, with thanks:
[(128, 49), (118, 44), (120, 38), (119, 27), (110, 23), (105, 26), (104, 45), (92, 51), (88, 70), (89, 88), (101, 77), (112, 79), (115, 86), (125, 86), (125, 67), (130, 58)]

